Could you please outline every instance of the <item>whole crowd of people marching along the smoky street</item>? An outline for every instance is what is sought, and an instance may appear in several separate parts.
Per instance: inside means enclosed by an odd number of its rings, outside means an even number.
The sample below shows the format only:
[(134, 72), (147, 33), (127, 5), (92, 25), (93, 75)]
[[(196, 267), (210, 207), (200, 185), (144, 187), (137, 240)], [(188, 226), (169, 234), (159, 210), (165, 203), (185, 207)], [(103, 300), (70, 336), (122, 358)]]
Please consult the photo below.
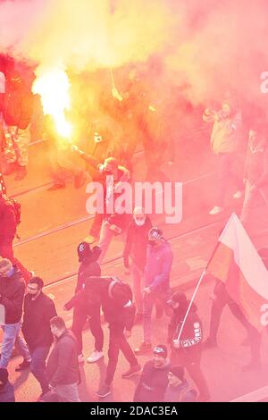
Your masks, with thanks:
[[(1, 80), (0, 135), (4, 175), (17, 172), (16, 180), (20, 181), (27, 174), (32, 94), (17, 71), (8, 72), (4, 78), (0, 77)], [(114, 101), (119, 105), (124, 100), (133, 100), (133, 95), (131, 88), (128, 97), (113, 88)], [(155, 112), (154, 106), (149, 102), (146, 106), (149, 112)], [(233, 197), (244, 197), (240, 218), (247, 226), (255, 208), (256, 197), (259, 196), (264, 205), (268, 205), (268, 148), (262, 127), (250, 127), (248, 144), (245, 147), (242, 115), (232, 98), (224, 99), (220, 110), (206, 108), (203, 119), (213, 123), (211, 147), (219, 161), (219, 197), (210, 214), (222, 212), (233, 182)], [(154, 141), (150, 138), (142, 113), (134, 114), (134, 117), (131, 115), (128, 123), (134, 124), (143, 132), (147, 170), (155, 171), (159, 154), (154, 155)], [(120, 141), (113, 142), (111, 133), (105, 131), (100, 119), (90, 128), (94, 138), (93, 150), (84, 151), (78, 146), (72, 146), (68, 150), (64, 147), (60, 149), (54, 141), (55, 133), (49, 117), (45, 127), (45, 136), (52, 140), (52, 147), (56, 150), (56, 154), (51, 153), (54, 183), (50, 190), (65, 188), (62, 170), (72, 173), (76, 188), (84, 185), (86, 169), (80, 169), (80, 166), (73, 164), (69, 154), (75, 154), (87, 164), (92, 180), (104, 185), (104, 212), (95, 214), (87, 240), (78, 247), (80, 268), (77, 285), (73, 296), (64, 305), (66, 311), (73, 309), (72, 326), (69, 330), (63, 318), (57, 315), (53, 300), (43, 292), (44, 281), (26, 269), (13, 255), (13, 239), (20, 223), (20, 206), (7, 197), (1, 174), (0, 324), (3, 340), (0, 402), (15, 400), (13, 385), (8, 379), (8, 365), (14, 347), (23, 357), (16, 370), (30, 369), (40, 385), (39, 401), (79, 402), (79, 365), (85, 361), (82, 332), (87, 322), (95, 340), (95, 349), (87, 358), (88, 363), (97, 363), (105, 357), (106, 327), (102, 323), (101, 314), (108, 325), (109, 342), (106, 346), (108, 363), (105, 381), (96, 391), (96, 396), (100, 399), (111, 393), (121, 351), (130, 365), (121, 374), (122, 378), (130, 378), (142, 371), (133, 396), (134, 401), (208, 401), (210, 391), (201, 370), (202, 348), (217, 344), (220, 316), (227, 304), (247, 329), (252, 359), (246, 368), (258, 367), (260, 335), (247, 322), (239, 306), (231, 300), (223, 283), (216, 281), (209, 337), (203, 343), (204, 332), (197, 306), (191, 306), (186, 318), (189, 305), (186, 294), (181, 290), (172, 293), (170, 278), (174, 255), (162, 229), (154, 226), (150, 215), (146, 214), (142, 206), (135, 207), (132, 215), (121, 214), (116, 208), (112, 214), (107, 211), (111, 200), (120, 196), (121, 183), (131, 181), (131, 155), (136, 144), (134, 148), (131, 143), (122, 150)], [(240, 170), (243, 155), (247, 155), (244, 180)], [(101, 263), (105, 253), (113, 237), (122, 232), (125, 232), (123, 264), (126, 273), (130, 274), (130, 284), (121, 281), (121, 273), (119, 277), (102, 275)], [(98, 243), (95, 247), (92, 246), (94, 242)], [(151, 340), (154, 328), (157, 328), (152, 320), (154, 307), (156, 317), (164, 312), (169, 320), (166, 337), (156, 347), (152, 346)], [(133, 326), (138, 323), (142, 323), (143, 338), (137, 349), (131, 349), (128, 339)], [(152, 357), (143, 369), (138, 361), (140, 355)], [(196, 389), (188, 383), (186, 373)]]

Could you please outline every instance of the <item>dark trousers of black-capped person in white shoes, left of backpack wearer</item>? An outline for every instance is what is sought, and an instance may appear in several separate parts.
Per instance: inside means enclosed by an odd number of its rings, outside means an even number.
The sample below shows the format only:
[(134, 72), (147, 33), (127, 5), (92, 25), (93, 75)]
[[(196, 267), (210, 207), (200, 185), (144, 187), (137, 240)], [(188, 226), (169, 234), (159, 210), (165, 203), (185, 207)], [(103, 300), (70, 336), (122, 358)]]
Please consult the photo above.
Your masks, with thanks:
[(95, 349), (97, 351), (102, 351), (104, 347), (104, 332), (101, 327), (100, 307), (90, 307), (90, 315), (87, 314), (86, 309), (75, 307), (73, 311), (71, 330), (77, 339), (79, 355), (83, 351), (82, 332), (87, 320), (89, 324), (89, 329), (95, 339)]

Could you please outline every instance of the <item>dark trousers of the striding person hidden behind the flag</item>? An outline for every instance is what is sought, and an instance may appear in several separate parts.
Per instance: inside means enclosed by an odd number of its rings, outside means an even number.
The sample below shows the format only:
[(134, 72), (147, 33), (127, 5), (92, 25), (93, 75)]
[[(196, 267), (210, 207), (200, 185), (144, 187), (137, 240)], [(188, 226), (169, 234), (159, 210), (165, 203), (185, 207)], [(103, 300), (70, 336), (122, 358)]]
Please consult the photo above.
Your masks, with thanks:
[(211, 319), (210, 319), (210, 332), (209, 337), (212, 340), (217, 339), (217, 333), (220, 326), (222, 310), (228, 305), (230, 307), (231, 313), (239, 320), (240, 323), (246, 328), (252, 361), (260, 360), (260, 347), (261, 347), (261, 335), (260, 333), (247, 322), (245, 315), (242, 313), (239, 305), (230, 298), (229, 295), (217, 297), (213, 301), (213, 306), (211, 310)]

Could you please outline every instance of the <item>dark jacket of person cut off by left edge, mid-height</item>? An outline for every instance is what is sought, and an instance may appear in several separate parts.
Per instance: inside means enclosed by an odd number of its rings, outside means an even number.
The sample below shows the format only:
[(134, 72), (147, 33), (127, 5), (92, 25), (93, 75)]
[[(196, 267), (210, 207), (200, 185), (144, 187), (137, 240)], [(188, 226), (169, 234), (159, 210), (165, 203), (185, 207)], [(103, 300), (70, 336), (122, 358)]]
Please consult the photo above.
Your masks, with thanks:
[(0, 197), (0, 242), (13, 239), (16, 234), (17, 223), (13, 206), (8, 200)]

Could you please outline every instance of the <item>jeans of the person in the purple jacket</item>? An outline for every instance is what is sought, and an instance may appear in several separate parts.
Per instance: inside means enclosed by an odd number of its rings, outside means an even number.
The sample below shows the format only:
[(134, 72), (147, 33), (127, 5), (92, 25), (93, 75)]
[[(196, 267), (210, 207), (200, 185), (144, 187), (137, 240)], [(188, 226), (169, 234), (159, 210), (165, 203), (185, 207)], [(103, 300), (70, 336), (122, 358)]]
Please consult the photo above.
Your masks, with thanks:
[(151, 317), (152, 310), (156, 301), (160, 301), (163, 304), (164, 309), (167, 309), (168, 306), (166, 302), (171, 296), (170, 290), (161, 291), (161, 292), (152, 292), (150, 294), (145, 294), (143, 297), (143, 340), (150, 342), (151, 341)]

